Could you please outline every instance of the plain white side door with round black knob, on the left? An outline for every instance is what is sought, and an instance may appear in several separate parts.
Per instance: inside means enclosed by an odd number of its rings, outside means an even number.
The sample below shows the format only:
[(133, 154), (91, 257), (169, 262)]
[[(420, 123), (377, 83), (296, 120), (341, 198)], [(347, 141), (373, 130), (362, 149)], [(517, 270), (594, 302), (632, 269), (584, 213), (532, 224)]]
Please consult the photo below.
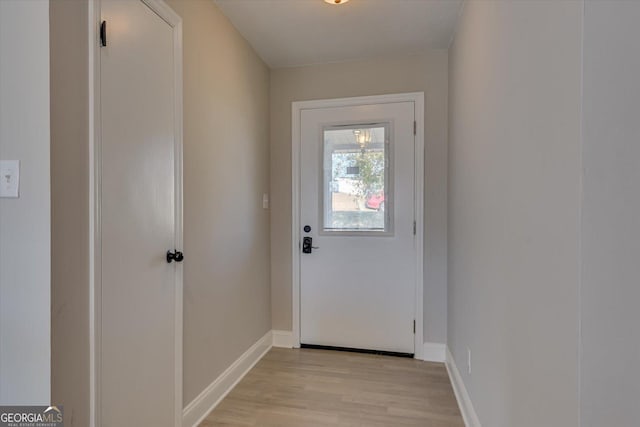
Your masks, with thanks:
[(175, 28), (140, 0), (102, 0), (101, 320), (104, 427), (174, 426), (177, 245)]

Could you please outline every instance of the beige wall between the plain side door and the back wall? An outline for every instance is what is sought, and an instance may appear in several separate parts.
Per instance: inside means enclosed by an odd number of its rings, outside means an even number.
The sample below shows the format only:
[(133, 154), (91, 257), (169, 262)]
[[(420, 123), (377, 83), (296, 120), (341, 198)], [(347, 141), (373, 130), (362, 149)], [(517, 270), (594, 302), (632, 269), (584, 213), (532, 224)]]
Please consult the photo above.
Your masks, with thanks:
[(269, 69), (210, 0), (184, 30), (184, 403), (271, 329)]

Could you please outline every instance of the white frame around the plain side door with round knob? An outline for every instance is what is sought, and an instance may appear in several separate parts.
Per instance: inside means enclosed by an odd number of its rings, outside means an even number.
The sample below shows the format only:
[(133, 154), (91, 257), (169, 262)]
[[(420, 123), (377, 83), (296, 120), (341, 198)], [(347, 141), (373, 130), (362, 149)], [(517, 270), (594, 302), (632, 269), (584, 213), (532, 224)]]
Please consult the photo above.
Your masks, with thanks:
[[(183, 247), (183, 180), (182, 180), (182, 138), (183, 138), (183, 86), (182, 86), (182, 18), (163, 0), (139, 0), (173, 28), (174, 61), (174, 118), (175, 118), (175, 242)], [(102, 425), (100, 414), (100, 362), (101, 362), (101, 321), (102, 321), (102, 265), (101, 244), (101, 181), (102, 150), (100, 129), (100, 22), (101, 0), (89, 0), (89, 422), (90, 427)], [(182, 426), (183, 415), (183, 266), (176, 263), (175, 278), (175, 322), (174, 360), (175, 374), (175, 421)]]

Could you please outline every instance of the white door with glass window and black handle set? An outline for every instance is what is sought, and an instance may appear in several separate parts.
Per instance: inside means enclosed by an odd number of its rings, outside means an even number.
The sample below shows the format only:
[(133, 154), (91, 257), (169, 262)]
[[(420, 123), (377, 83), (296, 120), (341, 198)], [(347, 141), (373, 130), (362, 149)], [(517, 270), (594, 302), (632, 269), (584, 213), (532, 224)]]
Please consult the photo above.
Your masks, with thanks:
[(413, 354), (414, 102), (300, 117), (300, 342)]

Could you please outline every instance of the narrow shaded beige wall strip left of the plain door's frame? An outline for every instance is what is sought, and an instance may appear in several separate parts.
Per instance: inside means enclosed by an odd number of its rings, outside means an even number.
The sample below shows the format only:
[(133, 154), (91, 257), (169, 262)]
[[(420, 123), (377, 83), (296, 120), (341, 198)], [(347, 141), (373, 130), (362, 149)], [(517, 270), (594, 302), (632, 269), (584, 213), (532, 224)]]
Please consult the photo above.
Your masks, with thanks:
[(88, 3), (55, 0), (51, 51), (51, 401), (89, 425)]

